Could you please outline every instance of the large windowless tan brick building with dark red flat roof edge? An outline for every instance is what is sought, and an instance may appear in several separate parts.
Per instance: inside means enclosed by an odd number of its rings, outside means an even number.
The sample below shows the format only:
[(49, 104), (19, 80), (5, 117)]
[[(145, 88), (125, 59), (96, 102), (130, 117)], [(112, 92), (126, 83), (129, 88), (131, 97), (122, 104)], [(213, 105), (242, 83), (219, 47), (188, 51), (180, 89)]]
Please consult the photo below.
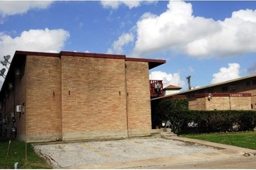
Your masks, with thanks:
[(3, 84), (3, 134), (22, 141), (150, 134), (149, 70), (161, 59), (16, 51)]

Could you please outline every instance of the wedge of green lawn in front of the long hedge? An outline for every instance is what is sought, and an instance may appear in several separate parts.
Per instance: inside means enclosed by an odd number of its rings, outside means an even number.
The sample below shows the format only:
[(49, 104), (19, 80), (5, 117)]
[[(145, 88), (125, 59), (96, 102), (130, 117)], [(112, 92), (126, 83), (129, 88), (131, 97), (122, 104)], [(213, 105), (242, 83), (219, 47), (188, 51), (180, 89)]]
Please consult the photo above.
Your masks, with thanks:
[(182, 136), (185, 138), (195, 138), (203, 141), (213, 141), (220, 144), (256, 149), (256, 131), (213, 134), (186, 134)]

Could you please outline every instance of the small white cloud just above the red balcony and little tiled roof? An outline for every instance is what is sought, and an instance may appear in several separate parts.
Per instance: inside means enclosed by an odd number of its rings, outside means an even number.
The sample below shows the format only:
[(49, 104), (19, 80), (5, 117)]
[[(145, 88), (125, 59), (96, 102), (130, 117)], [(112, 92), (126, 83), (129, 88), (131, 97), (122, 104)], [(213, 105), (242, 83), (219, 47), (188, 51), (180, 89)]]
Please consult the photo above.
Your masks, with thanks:
[(183, 87), (185, 82), (181, 80), (179, 73), (165, 73), (162, 71), (153, 71), (150, 73), (150, 80), (163, 80), (164, 87), (168, 85), (175, 85), (178, 87)]

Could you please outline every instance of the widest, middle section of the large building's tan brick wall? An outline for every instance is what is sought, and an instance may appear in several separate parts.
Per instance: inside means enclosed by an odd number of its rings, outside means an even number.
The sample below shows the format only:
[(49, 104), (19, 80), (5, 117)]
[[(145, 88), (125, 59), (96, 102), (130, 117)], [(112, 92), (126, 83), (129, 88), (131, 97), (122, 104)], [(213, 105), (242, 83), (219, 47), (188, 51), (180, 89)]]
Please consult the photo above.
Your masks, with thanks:
[(124, 59), (61, 59), (63, 139), (127, 137)]

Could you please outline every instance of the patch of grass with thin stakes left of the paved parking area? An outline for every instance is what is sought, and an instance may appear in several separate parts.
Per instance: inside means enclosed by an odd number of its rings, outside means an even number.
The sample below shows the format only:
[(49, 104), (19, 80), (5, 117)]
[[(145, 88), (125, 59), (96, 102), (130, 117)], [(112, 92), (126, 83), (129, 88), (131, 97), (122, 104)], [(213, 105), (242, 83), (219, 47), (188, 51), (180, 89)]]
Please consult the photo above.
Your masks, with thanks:
[[(5, 168), (8, 145), (9, 141), (0, 141), (0, 169)], [(6, 168), (13, 168), (15, 162), (19, 163), (18, 168), (51, 168), (43, 158), (36, 155), (30, 144), (27, 144), (26, 162), (26, 144), (23, 141), (11, 141)]]

